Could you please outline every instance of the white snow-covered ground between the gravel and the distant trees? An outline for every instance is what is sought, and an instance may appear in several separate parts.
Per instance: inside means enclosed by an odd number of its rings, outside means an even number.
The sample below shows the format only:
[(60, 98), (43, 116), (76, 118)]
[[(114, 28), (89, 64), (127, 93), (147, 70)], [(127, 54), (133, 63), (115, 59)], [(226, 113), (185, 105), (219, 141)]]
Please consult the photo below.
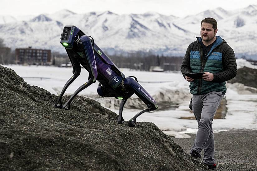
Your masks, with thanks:
[[(237, 60), (238, 67), (252, 67), (245, 60)], [(5, 66), (13, 69), (19, 76), (30, 85), (37, 85), (57, 95), (66, 81), (72, 76), (72, 68), (58, 68), (46, 66)], [(187, 132), (197, 132), (197, 122), (195, 120), (180, 119), (181, 117), (193, 116), (189, 113), (188, 104), (191, 95), (189, 93), (189, 83), (183, 79), (180, 72), (140, 72), (121, 69), (125, 76), (136, 76), (139, 83), (152, 95), (157, 103), (171, 101), (179, 104), (177, 109), (156, 110), (144, 113), (137, 118), (137, 122), (153, 122), (164, 133), (177, 138), (188, 137)], [(72, 94), (82, 84), (87, 82), (88, 72), (82, 70), (81, 75), (66, 90), (67, 94)], [(98, 82), (80, 92), (79, 95), (97, 95)], [(242, 84), (227, 84), (227, 114), (225, 119), (215, 119), (213, 129), (216, 133), (231, 129), (257, 129), (257, 89), (249, 91)], [(162, 96), (165, 95), (165, 96)], [(134, 95), (135, 97), (135, 95)], [(110, 109), (117, 114), (117, 109)], [(123, 118), (131, 119), (140, 110), (124, 109)]]

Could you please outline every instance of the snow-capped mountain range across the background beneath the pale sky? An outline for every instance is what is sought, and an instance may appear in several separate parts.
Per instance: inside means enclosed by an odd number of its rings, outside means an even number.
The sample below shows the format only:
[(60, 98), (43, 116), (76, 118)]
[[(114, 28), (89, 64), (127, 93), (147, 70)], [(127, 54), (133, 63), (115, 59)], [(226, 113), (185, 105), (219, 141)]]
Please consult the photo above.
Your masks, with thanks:
[(184, 18), (157, 12), (117, 15), (110, 11), (76, 14), (69, 10), (30, 16), (26, 21), (8, 17), (0, 16), (0, 37), (12, 49), (32, 46), (64, 53), (60, 34), (65, 25), (75, 25), (108, 53), (140, 50), (183, 56), (188, 44), (200, 36), (201, 20), (213, 17), (218, 22), (217, 35), (238, 57), (257, 55), (256, 5), (234, 11), (216, 8)]

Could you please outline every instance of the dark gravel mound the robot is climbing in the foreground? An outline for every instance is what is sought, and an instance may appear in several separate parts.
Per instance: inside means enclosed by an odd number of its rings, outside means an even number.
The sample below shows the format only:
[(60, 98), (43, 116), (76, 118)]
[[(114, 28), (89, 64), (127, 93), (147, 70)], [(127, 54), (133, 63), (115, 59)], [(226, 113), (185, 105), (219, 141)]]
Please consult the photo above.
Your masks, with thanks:
[(131, 128), (92, 99), (71, 110), (56, 99), (0, 66), (0, 170), (207, 170), (153, 123)]

